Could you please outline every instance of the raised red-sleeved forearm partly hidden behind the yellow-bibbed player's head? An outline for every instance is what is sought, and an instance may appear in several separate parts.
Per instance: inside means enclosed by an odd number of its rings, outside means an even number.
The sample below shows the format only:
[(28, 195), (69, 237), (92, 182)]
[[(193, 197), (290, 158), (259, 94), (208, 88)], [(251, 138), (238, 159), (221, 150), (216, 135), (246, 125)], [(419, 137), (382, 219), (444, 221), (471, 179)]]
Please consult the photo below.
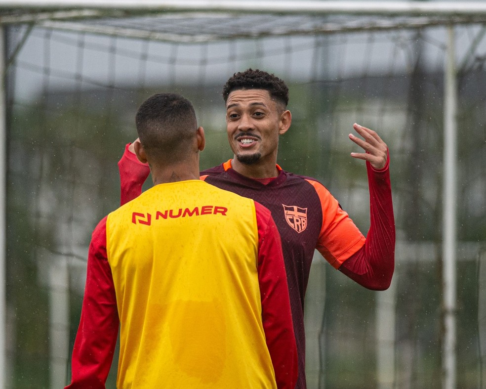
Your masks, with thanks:
[[(135, 140), (135, 142), (137, 141), (138, 139)], [(136, 157), (133, 143), (128, 143), (118, 162), (118, 170), (121, 185), (120, 203), (123, 205), (142, 193), (142, 185), (147, 179), (150, 169), (147, 164), (142, 164)]]

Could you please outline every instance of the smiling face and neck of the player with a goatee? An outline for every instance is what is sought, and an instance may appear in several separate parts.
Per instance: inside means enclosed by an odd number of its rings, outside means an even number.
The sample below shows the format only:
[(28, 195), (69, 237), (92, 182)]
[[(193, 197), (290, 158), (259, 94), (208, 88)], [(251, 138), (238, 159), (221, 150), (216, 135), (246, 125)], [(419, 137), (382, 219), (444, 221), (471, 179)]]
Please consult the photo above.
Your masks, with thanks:
[(226, 130), (235, 154), (233, 168), (244, 175), (276, 172), (279, 135), (290, 127), (290, 111), (265, 89), (233, 90), (226, 101)]

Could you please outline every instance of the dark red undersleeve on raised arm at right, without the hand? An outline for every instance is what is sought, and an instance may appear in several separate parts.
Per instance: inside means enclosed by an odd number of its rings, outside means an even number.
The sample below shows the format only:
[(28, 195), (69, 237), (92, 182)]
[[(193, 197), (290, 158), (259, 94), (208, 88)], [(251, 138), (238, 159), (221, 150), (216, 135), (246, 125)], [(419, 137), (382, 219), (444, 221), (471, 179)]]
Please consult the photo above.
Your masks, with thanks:
[(387, 289), (395, 267), (395, 219), (388, 167), (389, 159), (380, 171), (366, 164), (370, 227), (364, 246), (339, 267), (348, 277), (372, 290)]

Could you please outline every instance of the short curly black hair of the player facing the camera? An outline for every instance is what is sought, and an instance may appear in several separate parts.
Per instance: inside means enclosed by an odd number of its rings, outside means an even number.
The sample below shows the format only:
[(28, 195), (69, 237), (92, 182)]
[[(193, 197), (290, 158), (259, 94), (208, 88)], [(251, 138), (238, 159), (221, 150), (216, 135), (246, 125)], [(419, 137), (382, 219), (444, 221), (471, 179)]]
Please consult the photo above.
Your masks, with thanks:
[(238, 89), (265, 89), (277, 102), (288, 104), (288, 87), (274, 74), (263, 70), (247, 69), (244, 72), (235, 73), (223, 86), (223, 99), (226, 102), (229, 94)]

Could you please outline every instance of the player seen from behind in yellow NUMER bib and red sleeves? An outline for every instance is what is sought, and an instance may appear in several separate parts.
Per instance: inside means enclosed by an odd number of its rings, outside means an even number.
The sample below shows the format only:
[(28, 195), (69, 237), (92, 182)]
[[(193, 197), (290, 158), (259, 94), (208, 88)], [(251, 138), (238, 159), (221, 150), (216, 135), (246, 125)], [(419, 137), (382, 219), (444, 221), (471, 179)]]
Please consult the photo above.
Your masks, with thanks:
[(199, 179), (192, 104), (156, 94), (134, 151), (154, 186), (103, 218), (89, 246), (67, 388), (286, 388), (297, 349), (277, 227), (255, 201)]

